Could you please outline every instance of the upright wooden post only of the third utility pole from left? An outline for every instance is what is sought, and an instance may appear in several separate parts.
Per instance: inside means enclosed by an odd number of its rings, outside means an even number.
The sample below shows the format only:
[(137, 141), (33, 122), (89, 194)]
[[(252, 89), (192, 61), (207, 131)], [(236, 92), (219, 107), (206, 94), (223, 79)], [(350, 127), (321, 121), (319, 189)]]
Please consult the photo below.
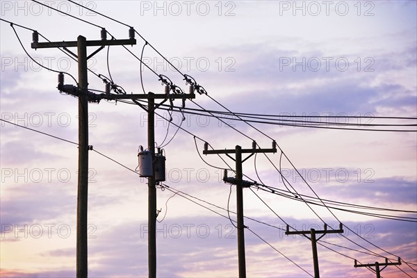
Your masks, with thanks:
[(243, 222), (243, 172), (242, 172), (242, 147), (236, 145), (236, 213), (238, 222), (238, 262), (239, 277), (246, 277), (245, 260), (245, 224)]

